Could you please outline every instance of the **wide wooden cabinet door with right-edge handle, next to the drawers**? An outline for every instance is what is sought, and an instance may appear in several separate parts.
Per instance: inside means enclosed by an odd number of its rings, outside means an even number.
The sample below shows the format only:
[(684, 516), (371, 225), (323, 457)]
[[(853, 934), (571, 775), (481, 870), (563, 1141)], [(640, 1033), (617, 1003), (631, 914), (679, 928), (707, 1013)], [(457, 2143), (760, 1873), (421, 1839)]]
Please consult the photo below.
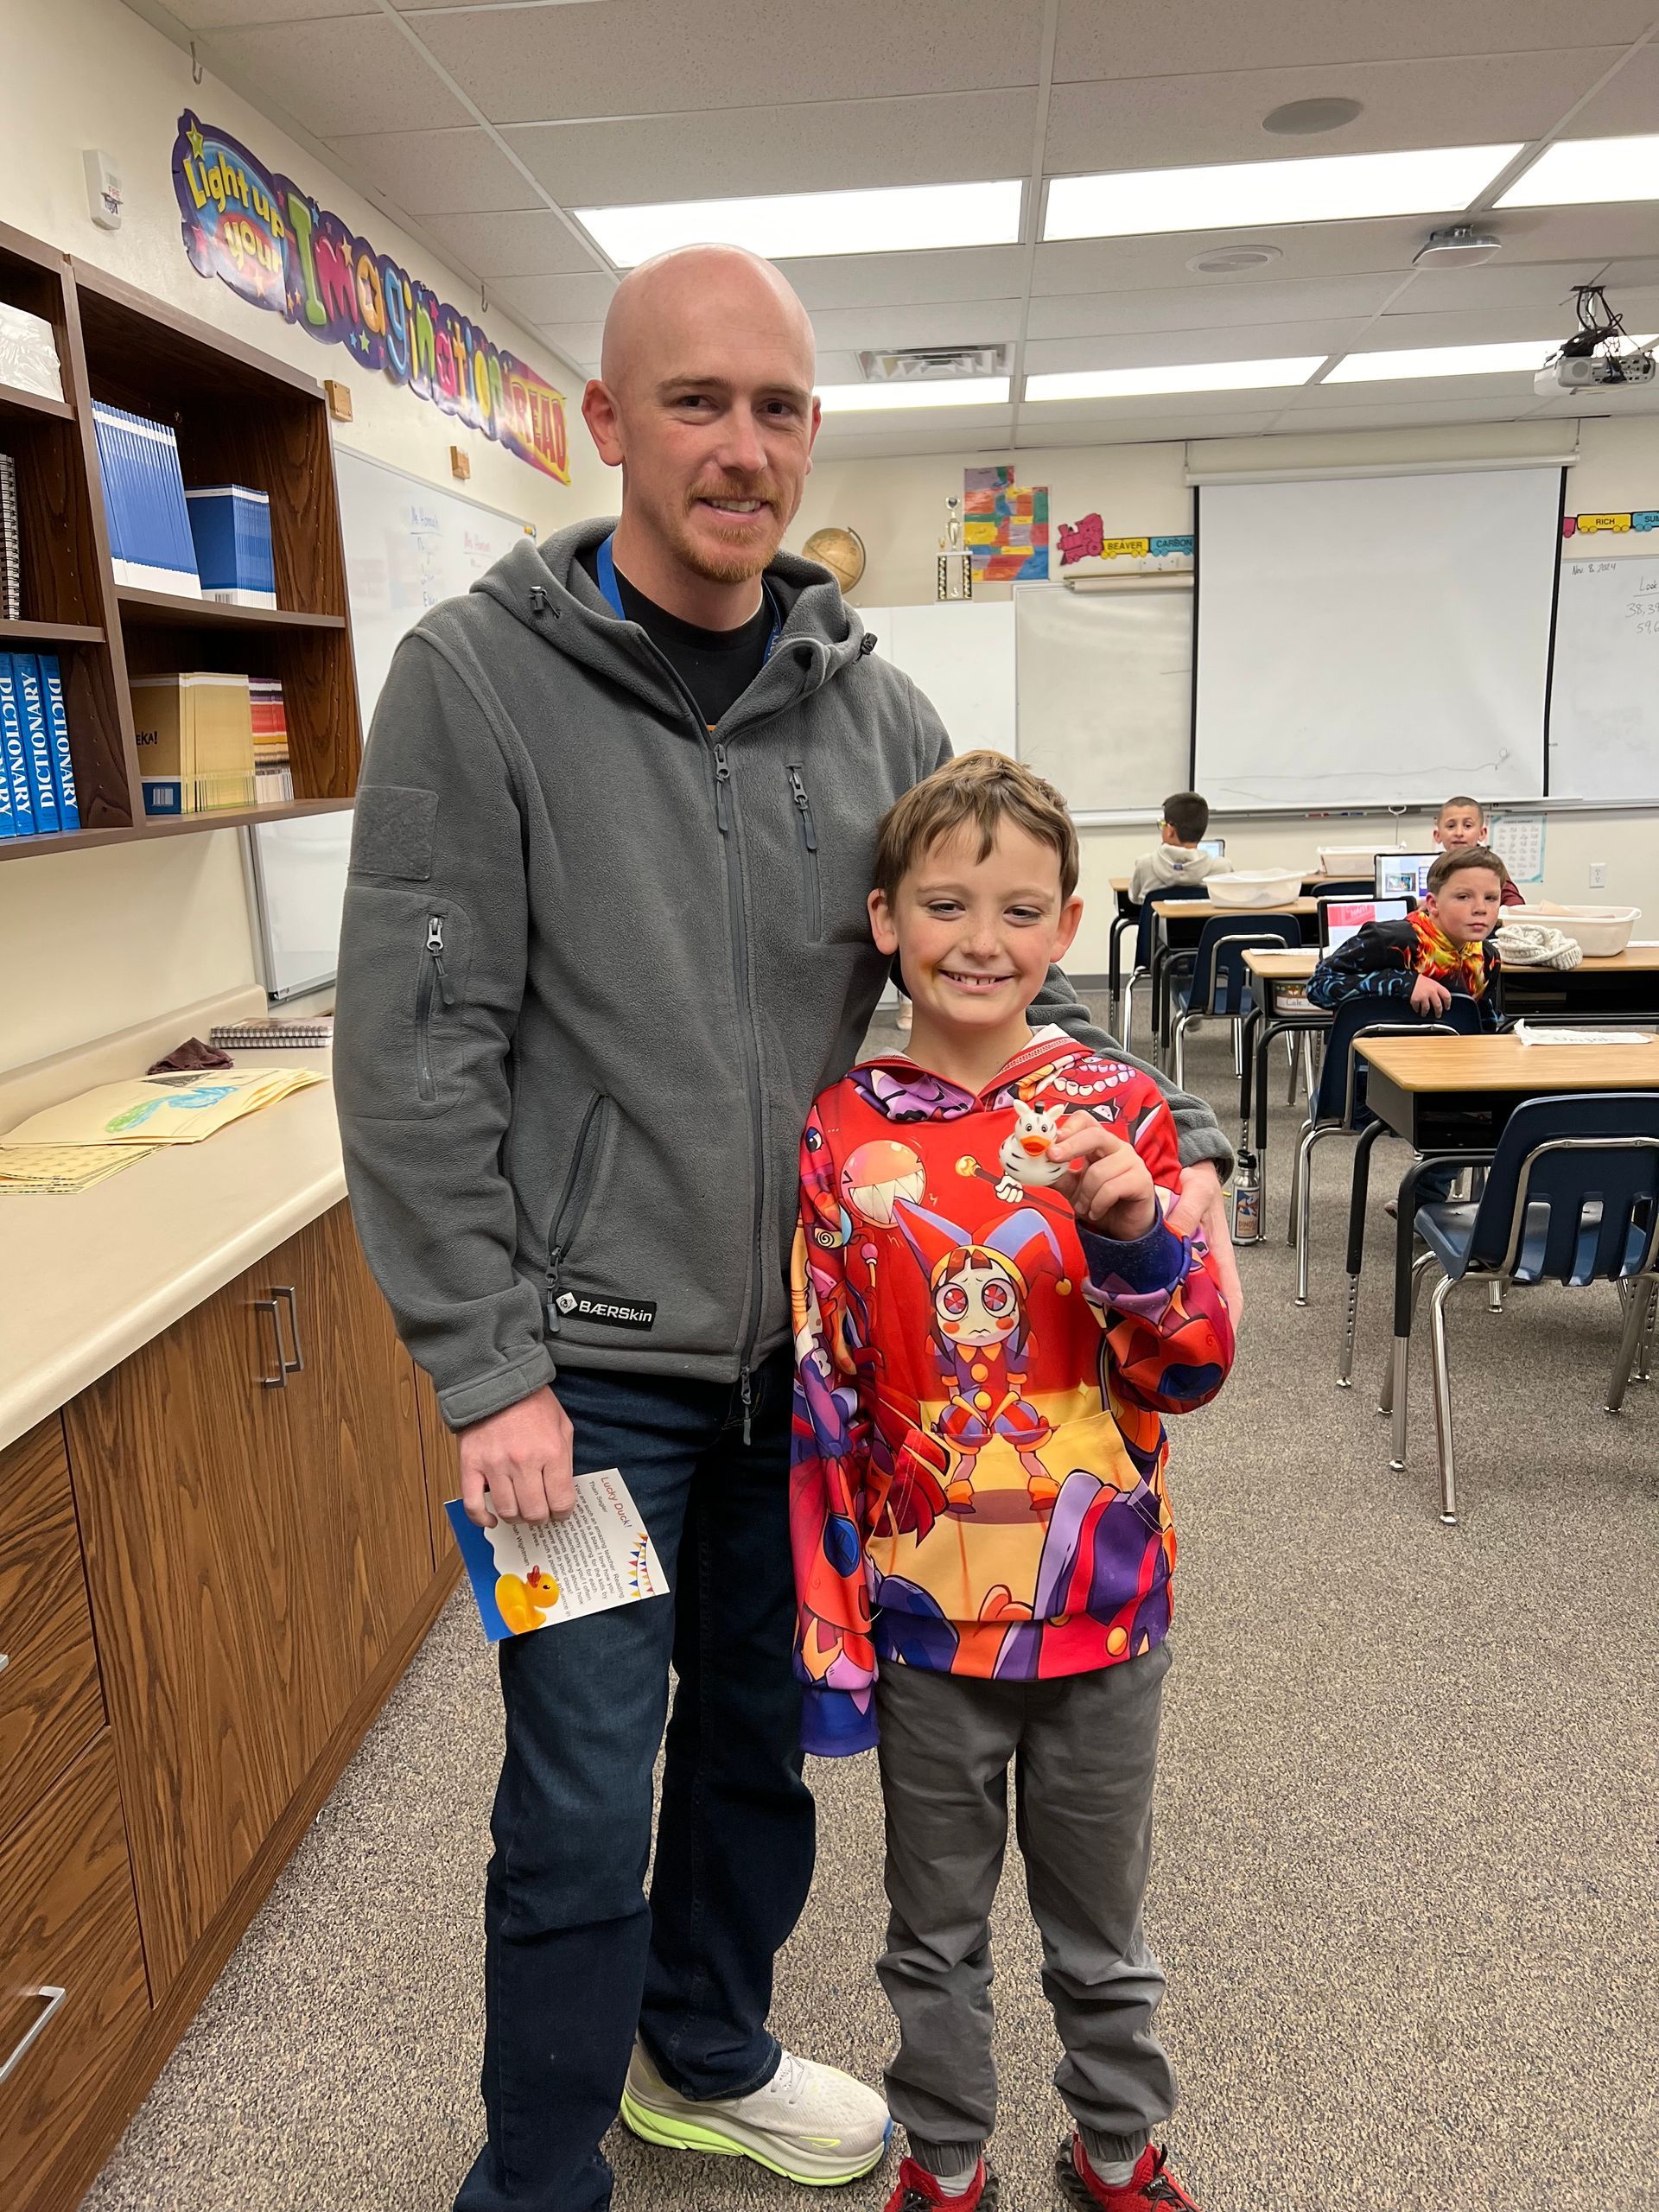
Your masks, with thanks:
[(150, 1984), (177, 1978), (338, 1717), (272, 1316), (226, 1285), (64, 1409)]

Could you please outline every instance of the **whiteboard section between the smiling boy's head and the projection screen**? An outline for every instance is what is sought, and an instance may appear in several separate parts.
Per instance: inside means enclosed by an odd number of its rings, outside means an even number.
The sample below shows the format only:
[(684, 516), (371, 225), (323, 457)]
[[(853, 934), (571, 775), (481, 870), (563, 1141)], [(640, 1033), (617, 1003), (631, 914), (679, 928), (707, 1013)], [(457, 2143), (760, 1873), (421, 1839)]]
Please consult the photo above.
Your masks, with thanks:
[(1190, 781), (1192, 588), (1015, 584), (1020, 759), (1073, 814), (1157, 810)]

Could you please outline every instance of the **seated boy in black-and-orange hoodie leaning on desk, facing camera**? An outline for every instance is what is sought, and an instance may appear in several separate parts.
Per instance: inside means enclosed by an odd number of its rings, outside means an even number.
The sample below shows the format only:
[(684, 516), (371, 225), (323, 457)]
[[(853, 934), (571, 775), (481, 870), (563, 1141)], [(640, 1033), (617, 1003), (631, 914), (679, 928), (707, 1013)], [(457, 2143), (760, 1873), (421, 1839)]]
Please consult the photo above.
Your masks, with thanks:
[[(1460, 805), (1460, 801), (1449, 801)], [(1407, 998), (1425, 1020), (1473, 998), (1480, 1026), (1498, 1029), (1498, 927), (1504, 863), (1484, 845), (1453, 845), (1429, 869), (1429, 894), (1402, 922), (1367, 922), (1314, 969), (1307, 995), (1336, 1009), (1349, 998)]]

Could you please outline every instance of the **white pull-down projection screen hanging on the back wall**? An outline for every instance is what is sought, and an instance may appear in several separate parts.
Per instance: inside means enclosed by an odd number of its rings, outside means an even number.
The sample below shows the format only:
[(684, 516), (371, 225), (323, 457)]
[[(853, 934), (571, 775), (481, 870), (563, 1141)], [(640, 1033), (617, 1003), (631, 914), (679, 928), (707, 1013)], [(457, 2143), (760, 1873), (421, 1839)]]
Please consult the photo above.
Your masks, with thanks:
[(1201, 487), (1210, 805), (1542, 796), (1562, 487), (1559, 467)]

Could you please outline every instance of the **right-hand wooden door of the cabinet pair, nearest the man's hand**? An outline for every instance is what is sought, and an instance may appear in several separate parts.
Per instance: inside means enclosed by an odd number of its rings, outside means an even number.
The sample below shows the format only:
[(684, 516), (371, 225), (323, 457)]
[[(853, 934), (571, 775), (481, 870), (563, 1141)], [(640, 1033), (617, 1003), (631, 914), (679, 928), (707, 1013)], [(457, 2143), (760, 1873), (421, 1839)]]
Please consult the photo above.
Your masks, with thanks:
[(290, 1376), (285, 1411), (330, 1703), (341, 1719), (431, 1582), (414, 1360), (347, 1206), (290, 1237), (250, 1281), (283, 1307), (292, 1292), (303, 1367)]

